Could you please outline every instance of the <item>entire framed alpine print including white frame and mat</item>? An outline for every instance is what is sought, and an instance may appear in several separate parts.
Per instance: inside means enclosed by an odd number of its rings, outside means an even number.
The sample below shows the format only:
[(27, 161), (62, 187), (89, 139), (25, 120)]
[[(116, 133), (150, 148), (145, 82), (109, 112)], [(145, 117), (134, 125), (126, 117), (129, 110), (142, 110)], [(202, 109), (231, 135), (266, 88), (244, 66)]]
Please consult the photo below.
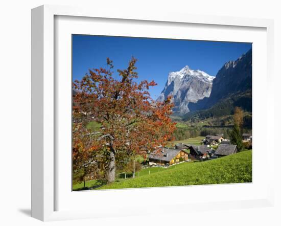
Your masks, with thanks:
[(32, 216), (272, 205), (272, 29), (33, 9)]

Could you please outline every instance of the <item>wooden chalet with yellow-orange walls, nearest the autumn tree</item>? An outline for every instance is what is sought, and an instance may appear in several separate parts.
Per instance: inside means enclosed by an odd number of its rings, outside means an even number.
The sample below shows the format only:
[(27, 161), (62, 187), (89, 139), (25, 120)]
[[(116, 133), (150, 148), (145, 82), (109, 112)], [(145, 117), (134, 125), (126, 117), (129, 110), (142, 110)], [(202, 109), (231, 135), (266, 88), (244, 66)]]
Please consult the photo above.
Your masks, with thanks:
[(182, 149), (161, 148), (149, 154), (149, 162), (156, 165), (173, 165), (188, 159), (188, 152)]

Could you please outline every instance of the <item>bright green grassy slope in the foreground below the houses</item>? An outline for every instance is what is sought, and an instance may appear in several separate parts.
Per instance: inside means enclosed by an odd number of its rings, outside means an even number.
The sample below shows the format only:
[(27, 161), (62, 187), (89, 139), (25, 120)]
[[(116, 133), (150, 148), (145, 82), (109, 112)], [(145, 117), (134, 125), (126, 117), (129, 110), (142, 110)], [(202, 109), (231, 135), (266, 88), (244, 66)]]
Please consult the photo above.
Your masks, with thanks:
[(181, 163), (157, 173), (114, 182), (98, 189), (165, 187), (252, 182), (252, 151), (206, 162)]

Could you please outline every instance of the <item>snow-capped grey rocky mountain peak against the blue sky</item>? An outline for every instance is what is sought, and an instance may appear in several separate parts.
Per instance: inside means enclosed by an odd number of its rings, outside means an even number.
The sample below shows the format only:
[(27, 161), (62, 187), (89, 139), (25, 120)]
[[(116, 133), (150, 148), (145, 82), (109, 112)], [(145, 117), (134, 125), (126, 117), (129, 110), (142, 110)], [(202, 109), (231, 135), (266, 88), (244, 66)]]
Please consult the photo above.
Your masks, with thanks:
[(165, 88), (157, 100), (163, 101), (171, 95), (175, 105), (174, 113), (184, 115), (190, 111), (189, 103), (209, 97), (214, 78), (203, 71), (185, 66), (178, 72), (169, 73)]

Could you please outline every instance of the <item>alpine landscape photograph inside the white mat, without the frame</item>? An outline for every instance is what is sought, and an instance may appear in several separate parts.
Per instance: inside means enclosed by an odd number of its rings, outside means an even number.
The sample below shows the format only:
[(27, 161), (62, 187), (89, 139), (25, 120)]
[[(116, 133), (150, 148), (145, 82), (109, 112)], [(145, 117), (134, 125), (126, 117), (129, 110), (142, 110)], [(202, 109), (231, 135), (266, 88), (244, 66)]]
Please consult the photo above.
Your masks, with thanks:
[(72, 34), (71, 48), (72, 191), (252, 183), (252, 43)]

